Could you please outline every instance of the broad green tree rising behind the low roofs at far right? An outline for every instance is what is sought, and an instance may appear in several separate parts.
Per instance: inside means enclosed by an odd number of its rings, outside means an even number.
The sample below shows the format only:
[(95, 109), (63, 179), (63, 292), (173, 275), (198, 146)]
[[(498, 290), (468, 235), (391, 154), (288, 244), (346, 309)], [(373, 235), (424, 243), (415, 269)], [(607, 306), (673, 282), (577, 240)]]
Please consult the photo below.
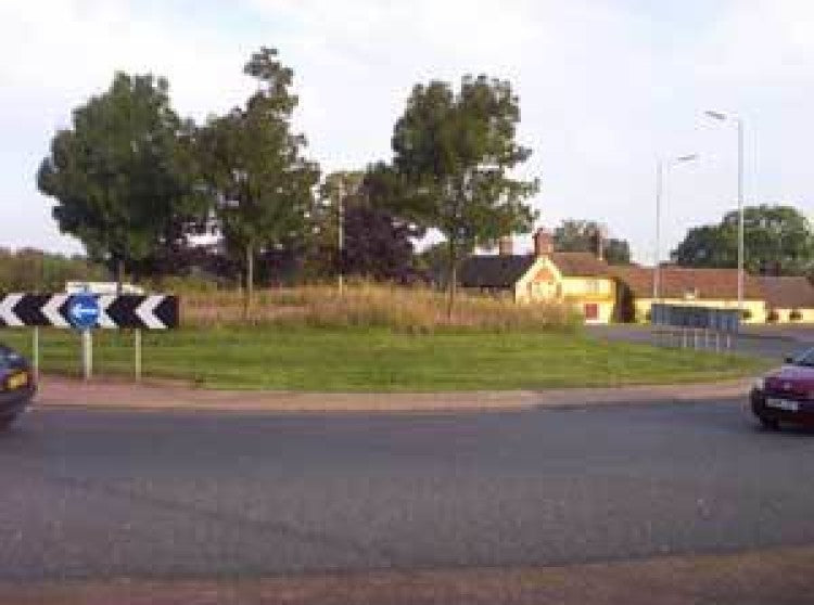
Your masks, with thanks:
[[(751, 273), (802, 275), (814, 268), (814, 230), (791, 206), (747, 207), (743, 241), (745, 266)], [(686, 267), (737, 267), (738, 213), (728, 213), (717, 224), (690, 229), (672, 258)]]

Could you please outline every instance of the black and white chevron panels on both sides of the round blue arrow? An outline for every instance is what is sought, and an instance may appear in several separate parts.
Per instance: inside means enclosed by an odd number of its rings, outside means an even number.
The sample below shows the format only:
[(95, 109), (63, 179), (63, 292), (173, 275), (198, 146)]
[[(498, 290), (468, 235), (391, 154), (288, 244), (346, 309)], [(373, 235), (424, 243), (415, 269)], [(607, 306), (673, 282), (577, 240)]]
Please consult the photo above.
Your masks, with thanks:
[[(72, 327), (69, 294), (0, 295), (0, 327)], [(97, 327), (168, 330), (178, 327), (178, 297), (153, 294), (97, 296)]]

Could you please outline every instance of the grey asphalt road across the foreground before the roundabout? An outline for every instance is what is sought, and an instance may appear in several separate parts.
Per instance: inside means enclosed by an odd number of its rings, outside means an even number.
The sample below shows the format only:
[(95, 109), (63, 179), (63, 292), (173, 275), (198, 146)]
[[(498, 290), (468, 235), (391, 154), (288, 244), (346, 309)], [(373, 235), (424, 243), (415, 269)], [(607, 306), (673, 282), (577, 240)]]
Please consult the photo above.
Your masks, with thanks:
[(549, 565), (814, 544), (814, 434), (740, 402), (459, 415), (38, 410), (0, 581)]

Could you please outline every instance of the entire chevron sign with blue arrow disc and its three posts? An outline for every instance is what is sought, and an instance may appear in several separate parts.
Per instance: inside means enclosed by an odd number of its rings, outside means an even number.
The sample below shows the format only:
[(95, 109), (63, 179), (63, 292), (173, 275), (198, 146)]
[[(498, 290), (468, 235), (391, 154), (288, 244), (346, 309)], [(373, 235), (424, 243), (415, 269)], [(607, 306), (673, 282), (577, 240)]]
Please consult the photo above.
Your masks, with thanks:
[(177, 296), (93, 294), (0, 295), (0, 327), (34, 327), (34, 368), (39, 366), (39, 327), (75, 329), (82, 333), (82, 368), (92, 369), (91, 331), (135, 331), (136, 377), (141, 376), (141, 331), (171, 330), (179, 324)]

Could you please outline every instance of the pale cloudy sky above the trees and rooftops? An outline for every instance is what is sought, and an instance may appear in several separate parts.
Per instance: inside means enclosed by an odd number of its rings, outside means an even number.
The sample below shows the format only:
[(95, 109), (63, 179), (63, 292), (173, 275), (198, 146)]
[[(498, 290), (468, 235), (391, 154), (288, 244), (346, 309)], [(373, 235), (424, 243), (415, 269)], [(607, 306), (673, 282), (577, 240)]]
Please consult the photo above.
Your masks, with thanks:
[(743, 120), (747, 204), (814, 211), (810, 0), (0, 0), (0, 246), (81, 252), (35, 175), (114, 72), (167, 77), (203, 120), (245, 100), (260, 46), (294, 68), (295, 126), (325, 171), (390, 159), (417, 82), (487, 74), (520, 96), (540, 226), (597, 220), (652, 262), (661, 158), (666, 258), (736, 207), (735, 121), (705, 110)]

